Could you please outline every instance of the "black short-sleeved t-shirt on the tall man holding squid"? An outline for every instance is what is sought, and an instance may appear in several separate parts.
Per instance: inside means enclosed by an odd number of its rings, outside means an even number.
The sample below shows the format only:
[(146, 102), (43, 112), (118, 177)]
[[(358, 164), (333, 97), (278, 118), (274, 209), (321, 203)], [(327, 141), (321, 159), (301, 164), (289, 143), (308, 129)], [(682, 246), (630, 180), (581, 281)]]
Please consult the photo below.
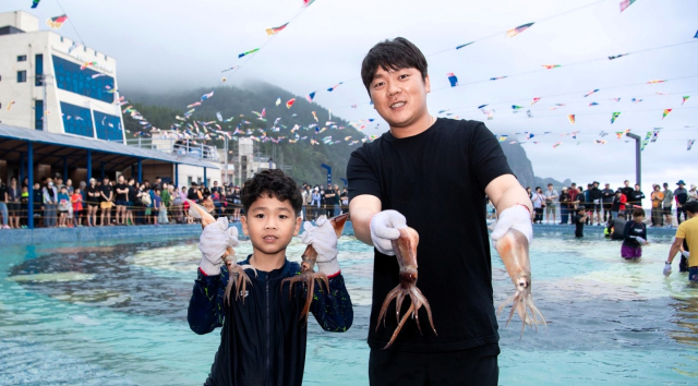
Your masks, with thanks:
[[(440, 118), (418, 135), (398, 140), (386, 132), (351, 154), (349, 200), (373, 195), (383, 210), (401, 213), (419, 232), (417, 287), (431, 303), (438, 337), (422, 307), (424, 335), (408, 321), (393, 345), (396, 350), (443, 352), (498, 341), (484, 189), (503, 174), (513, 174), (506, 156), (477, 121)], [(398, 273), (394, 256), (375, 251), (371, 348), (382, 349), (397, 326), (392, 302), (386, 326), (382, 323), (376, 331), (383, 301), (399, 284)], [(408, 306), (406, 300), (402, 312)]]

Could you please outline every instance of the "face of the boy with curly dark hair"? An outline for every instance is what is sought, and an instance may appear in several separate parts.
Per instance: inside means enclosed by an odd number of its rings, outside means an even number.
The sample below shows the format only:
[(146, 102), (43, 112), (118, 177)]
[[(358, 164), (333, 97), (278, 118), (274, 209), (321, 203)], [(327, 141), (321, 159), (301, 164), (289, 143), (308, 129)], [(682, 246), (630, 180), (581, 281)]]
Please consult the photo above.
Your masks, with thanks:
[(264, 258), (285, 253), (301, 228), (301, 218), (296, 216), (290, 201), (281, 202), (264, 194), (250, 206), (241, 224), (242, 231), (250, 237), (255, 258)]

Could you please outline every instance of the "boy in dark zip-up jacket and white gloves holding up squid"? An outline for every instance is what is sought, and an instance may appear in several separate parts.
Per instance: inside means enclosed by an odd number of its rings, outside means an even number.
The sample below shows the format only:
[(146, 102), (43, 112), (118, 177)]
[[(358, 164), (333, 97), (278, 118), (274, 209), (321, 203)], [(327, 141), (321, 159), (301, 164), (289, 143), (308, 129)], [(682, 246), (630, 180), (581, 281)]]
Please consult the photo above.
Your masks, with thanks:
[[(245, 182), (241, 198), (242, 229), (253, 253), (238, 265), (256, 269), (245, 270), (251, 284), (244, 293), (224, 301), (229, 274), (221, 257), (238, 244), (237, 228), (228, 228), (227, 218), (220, 217), (206, 226), (198, 244), (202, 261), (189, 325), (196, 334), (222, 327), (205, 385), (301, 385), (308, 335), (308, 319), (300, 317), (305, 287), (294, 285), (289, 295), (289, 284), (282, 284), (301, 272), (298, 263), (286, 258), (286, 248), (300, 230), (300, 191), (282, 171), (264, 170)], [(353, 310), (337, 263), (337, 236), (330, 221), (317, 224), (305, 224), (302, 240), (317, 251), (317, 267), (329, 278), (329, 291), (315, 285), (310, 310), (323, 329), (341, 333), (351, 326)]]

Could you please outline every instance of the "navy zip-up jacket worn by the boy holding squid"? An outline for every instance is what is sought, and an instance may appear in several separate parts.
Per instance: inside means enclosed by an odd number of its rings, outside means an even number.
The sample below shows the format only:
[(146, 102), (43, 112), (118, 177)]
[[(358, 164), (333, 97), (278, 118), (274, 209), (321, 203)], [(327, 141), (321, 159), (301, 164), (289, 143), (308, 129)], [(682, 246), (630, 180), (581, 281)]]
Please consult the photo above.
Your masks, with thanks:
[[(249, 264), (248, 260), (238, 264)], [(198, 270), (186, 319), (200, 335), (216, 327), (220, 331), (220, 347), (210, 374), (204, 385), (301, 385), (305, 365), (308, 326), (300, 321), (305, 303), (304, 286), (297, 284), (289, 299), (289, 285), (281, 280), (301, 272), (298, 263), (284, 263), (269, 273), (246, 269), (248, 284), (244, 303), (231, 293), (230, 305), (224, 303), (228, 269), (220, 275), (206, 276)], [(233, 291), (234, 292), (234, 287)], [(311, 312), (326, 331), (342, 333), (351, 327), (353, 309), (341, 275), (325, 285), (315, 284)]]

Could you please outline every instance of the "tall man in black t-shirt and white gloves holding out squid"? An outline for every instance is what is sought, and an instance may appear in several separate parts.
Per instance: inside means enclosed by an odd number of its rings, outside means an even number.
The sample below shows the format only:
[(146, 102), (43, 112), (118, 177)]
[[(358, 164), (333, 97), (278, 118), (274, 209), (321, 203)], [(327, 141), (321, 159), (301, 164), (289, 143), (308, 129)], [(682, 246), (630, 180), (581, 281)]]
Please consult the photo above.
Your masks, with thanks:
[[(500, 143), (483, 123), (436, 119), (426, 108), (430, 80), (422, 52), (404, 38), (373, 47), (361, 77), (389, 131), (351, 154), (349, 213), (356, 237), (375, 246), (369, 327), (371, 385), (496, 385), (500, 353), (492, 297), (485, 194), (498, 216), (492, 239), (514, 228), (530, 241), (531, 201)], [(392, 242), (407, 226), (419, 233), (417, 287), (431, 303), (438, 336), (422, 307), (383, 350), (397, 327), (399, 284)], [(514, 246), (516, 248), (516, 246)], [(409, 301), (402, 303), (404, 315)]]

